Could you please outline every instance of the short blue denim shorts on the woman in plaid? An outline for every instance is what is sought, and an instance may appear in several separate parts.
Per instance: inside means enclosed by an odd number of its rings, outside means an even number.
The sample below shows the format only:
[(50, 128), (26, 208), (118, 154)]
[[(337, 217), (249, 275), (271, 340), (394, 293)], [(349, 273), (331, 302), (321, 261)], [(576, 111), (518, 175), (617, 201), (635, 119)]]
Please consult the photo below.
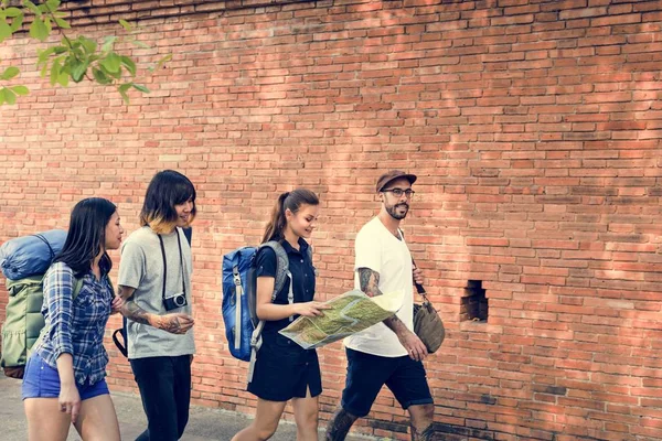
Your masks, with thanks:
[[(81, 401), (110, 394), (106, 379), (102, 379), (94, 385), (79, 385), (76, 383), (76, 387), (81, 395)], [(23, 399), (60, 397), (60, 374), (57, 369), (49, 366), (39, 355), (32, 354), (25, 365), (21, 395)]]

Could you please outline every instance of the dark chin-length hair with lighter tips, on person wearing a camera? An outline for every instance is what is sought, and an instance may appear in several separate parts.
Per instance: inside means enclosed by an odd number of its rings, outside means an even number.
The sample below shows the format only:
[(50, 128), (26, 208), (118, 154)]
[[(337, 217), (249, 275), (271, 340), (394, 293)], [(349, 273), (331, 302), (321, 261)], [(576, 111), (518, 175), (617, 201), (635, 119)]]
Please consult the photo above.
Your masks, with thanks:
[(149, 227), (157, 234), (168, 234), (177, 225), (175, 205), (193, 202), (191, 209), (191, 220), (195, 217), (195, 187), (189, 178), (174, 170), (163, 170), (152, 178), (142, 211), (140, 212), (140, 225)]

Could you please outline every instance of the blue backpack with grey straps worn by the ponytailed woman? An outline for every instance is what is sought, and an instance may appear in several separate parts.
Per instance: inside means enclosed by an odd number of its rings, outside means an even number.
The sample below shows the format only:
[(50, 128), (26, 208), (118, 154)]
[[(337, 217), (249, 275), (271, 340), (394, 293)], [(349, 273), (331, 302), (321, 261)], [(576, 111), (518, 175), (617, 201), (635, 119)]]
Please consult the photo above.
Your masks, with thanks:
[[(287, 252), (278, 241), (271, 240), (259, 247), (242, 247), (223, 256), (223, 322), (227, 346), (233, 357), (250, 362), (248, 383), (253, 379), (253, 368), (257, 359), (257, 351), (261, 346), (264, 320), (257, 318), (257, 276), (256, 256), (263, 248), (271, 248), (276, 254), (276, 280), (271, 302), (289, 278), (288, 301), (293, 303), (291, 273)], [(312, 257), (311, 247), (308, 247)], [(290, 316), (290, 321), (293, 318)]]

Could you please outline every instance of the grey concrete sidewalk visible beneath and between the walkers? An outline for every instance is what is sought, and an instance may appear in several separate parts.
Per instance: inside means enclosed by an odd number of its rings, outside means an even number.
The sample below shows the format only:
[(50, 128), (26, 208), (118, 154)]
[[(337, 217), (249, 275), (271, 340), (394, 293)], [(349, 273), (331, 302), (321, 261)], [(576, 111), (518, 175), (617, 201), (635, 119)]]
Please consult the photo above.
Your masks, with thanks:
[[(121, 439), (135, 440), (147, 428), (140, 397), (126, 394), (113, 394), (113, 400), (119, 418)], [(21, 381), (7, 378), (0, 370), (0, 421), (1, 441), (19, 441), (28, 438), (25, 415), (21, 402)], [(250, 418), (239, 413), (192, 407), (186, 431), (182, 441), (229, 440), (236, 432), (250, 423)], [(274, 441), (296, 440), (296, 427), (281, 421)], [(320, 439), (322, 439), (320, 431)], [(369, 440), (370, 438), (348, 437), (348, 441)], [(72, 428), (67, 441), (78, 441), (81, 437)]]

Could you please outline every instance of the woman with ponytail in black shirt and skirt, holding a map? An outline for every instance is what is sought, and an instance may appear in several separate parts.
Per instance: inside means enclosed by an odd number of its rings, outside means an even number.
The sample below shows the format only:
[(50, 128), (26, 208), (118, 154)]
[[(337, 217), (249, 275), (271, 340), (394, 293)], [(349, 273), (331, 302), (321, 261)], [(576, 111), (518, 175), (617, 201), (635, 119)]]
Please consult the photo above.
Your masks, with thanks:
[(257, 396), (257, 409), (253, 423), (235, 434), (233, 441), (269, 439), (276, 432), (290, 399), (297, 422), (297, 440), (318, 440), (318, 397), (322, 392), (322, 380), (317, 353), (303, 349), (278, 333), (299, 315), (318, 316), (328, 309), (313, 301), (316, 271), (305, 240), (314, 229), (318, 212), (318, 196), (309, 190), (297, 189), (278, 197), (267, 224), (263, 243), (276, 241), (282, 247), (289, 260), (289, 277), (271, 302), (277, 256), (271, 248), (263, 247), (255, 262), (256, 311), (266, 323), (253, 379), (247, 388)]

